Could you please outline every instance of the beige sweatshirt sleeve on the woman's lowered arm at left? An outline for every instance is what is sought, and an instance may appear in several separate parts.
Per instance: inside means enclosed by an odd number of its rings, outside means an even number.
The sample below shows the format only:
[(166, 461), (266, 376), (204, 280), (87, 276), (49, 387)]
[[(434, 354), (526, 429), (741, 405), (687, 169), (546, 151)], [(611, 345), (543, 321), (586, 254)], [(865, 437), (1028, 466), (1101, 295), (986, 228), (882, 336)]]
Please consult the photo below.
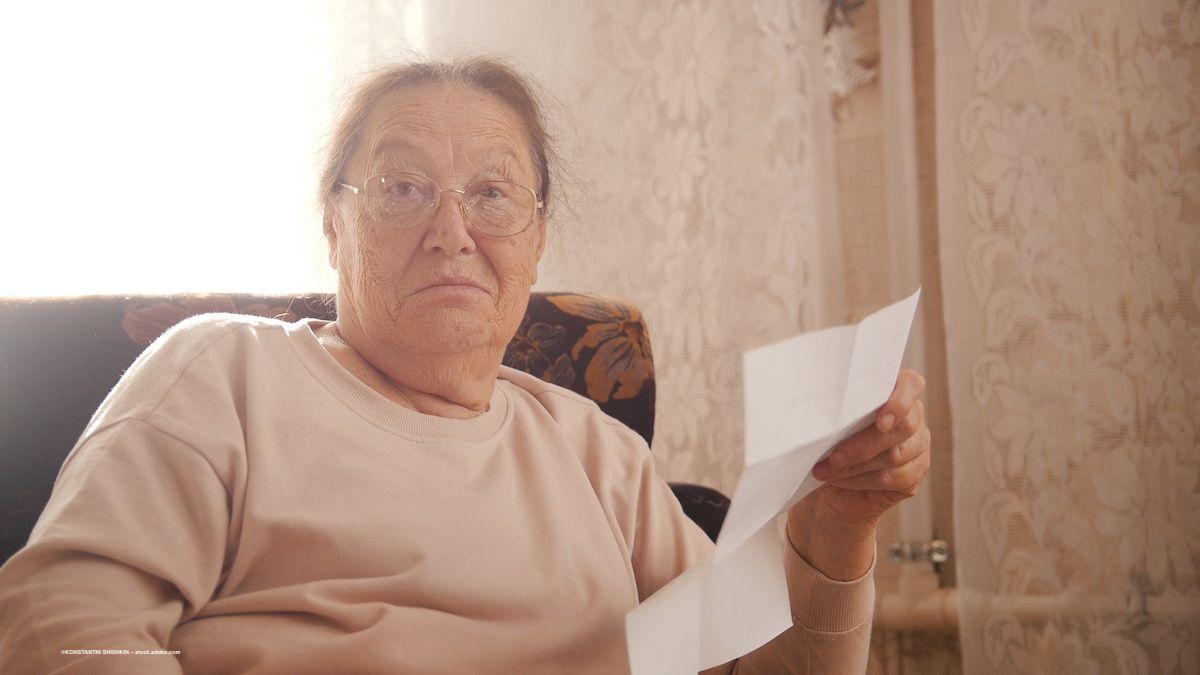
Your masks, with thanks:
[(0, 673), (181, 673), (134, 652), (167, 650), (209, 601), (228, 526), (228, 490), (191, 446), (138, 419), (85, 438), (0, 568)]

